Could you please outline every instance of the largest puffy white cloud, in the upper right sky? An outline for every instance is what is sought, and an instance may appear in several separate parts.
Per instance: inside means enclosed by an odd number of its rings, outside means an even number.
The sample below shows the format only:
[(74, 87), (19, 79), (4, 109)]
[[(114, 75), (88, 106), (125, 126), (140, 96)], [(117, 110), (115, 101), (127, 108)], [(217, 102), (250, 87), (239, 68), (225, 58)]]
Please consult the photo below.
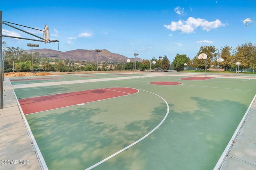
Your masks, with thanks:
[(181, 33), (194, 33), (194, 29), (201, 27), (203, 30), (210, 31), (218, 27), (224, 27), (227, 23), (222, 23), (220, 20), (207, 21), (201, 18), (189, 17), (188, 20), (179, 20), (177, 22), (172, 21), (170, 25), (164, 25), (171, 31), (180, 31)]

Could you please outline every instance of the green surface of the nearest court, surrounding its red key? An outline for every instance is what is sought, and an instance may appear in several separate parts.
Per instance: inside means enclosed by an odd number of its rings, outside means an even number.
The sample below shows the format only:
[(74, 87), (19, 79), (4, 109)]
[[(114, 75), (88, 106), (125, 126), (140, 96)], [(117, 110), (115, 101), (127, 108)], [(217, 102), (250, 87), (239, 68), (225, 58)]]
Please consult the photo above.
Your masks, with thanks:
[[(98, 76), (109, 75), (94, 78)], [(23, 99), (108, 87), (139, 90), (26, 115), (50, 170), (213, 169), (256, 93), (256, 80), (179, 78), (184, 76), (38, 86), (14, 92)], [(182, 85), (149, 84), (156, 81)]]

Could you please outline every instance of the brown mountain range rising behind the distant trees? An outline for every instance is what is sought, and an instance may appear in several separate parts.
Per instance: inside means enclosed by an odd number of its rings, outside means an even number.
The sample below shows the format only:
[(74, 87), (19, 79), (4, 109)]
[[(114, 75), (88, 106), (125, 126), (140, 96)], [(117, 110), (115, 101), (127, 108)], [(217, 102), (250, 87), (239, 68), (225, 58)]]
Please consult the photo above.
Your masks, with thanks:
[[(32, 50), (24, 50), (24, 52), (32, 53)], [(76, 59), (79, 61), (91, 62), (97, 61), (97, 52), (94, 50), (77, 49), (72, 51), (61, 52), (51, 49), (34, 49), (34, 53), (35, 52), (38, 52), (40, 57), (48, 57), (54, 59)], [(103, 49), (101, 52), (98, 52), (99, 62), (126, 62), (127, 59), (129, 58), (120, 54), (111, 53), (106, 49)], [(136, 57), (136, 61), (142, 62), (142, 59)]]

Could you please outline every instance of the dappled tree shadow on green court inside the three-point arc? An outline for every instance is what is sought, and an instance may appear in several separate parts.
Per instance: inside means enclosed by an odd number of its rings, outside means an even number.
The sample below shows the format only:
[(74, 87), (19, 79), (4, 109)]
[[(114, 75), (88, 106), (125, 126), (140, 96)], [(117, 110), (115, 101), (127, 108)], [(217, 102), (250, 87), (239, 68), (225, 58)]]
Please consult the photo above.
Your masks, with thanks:
[[(149, 119), (132, 121), (124, 128), (115, 125), (117, 120), (112, 120), (114, 123), (111, 124), (104, 120), (95, 121), (94, 117), (110, 112), (100, 107), (68, 107), (58, 113), (47, 111), (39, 116), (26, 115), (26, 118), (49, 169), (85, 169), (154, 129), (164, 118), (166, 105), (155, 108)], [(125, 116), (129, 115), (124, 115), (124, 119)], [(125, 158), (134, 159), (130, 154)], [(109, 164), (112, 168), (118, 167), (116, 162)], [(130, 165), (126, 166), (129, 169)]]

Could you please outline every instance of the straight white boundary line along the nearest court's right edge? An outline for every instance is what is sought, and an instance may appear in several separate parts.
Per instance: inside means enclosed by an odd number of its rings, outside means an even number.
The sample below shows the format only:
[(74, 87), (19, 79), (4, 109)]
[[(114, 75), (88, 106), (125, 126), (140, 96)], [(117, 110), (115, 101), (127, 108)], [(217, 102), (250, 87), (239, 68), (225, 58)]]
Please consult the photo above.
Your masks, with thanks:
[(234, 145), (233, 141), (236, 141), (238, 134), (240, 133), (240, 131), (242, 130), (242, 127), (244, 126), (244, 121), (245, 119), (248, 117), (249, 112), (251, 110), (252, 104), (255, 102), (255, 98), (256, 98), (256, 94), (254, 96), (254, 98), (252, 99), (251, 104), (249, 105), (248, 109), (246, 110), (246, 112), (244, 113), (244, 117), (242, 118), (242, 120), (240, 121), (238, 127), (236, 128), (236, 131), (234, 132), (233, 136), (231, 137), (228, 145), (226, 146), (225, 150), (223, 151), (222, 155), (220, 156), (220, 159), (218, 160), (217, 164), (215, 165), (213, 170), (220, 170), (224, 164), (224, 162), (226, 161), (226, 159), (228, 158), (228, 155)]

